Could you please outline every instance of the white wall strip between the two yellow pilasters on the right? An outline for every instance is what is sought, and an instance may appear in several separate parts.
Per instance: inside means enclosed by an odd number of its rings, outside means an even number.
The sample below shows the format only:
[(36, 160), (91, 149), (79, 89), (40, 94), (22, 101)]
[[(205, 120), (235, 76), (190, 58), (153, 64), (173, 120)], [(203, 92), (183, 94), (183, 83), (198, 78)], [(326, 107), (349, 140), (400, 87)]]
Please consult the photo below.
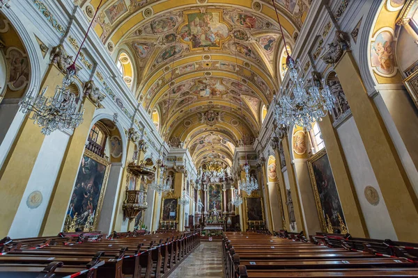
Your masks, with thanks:
[[(397, 240), (398, 238), (392, 220), (389, 217), (385, 200), (382, 198), (378, 181), (371, 167), (354, 118), (350, 117), (350, 119), (341, 124), (337, 129), (337, 133), (341, 140), (343, 152), (346, 155), (348, 169), (353, 178), (370, 237)], [(370, 204), (364, 197), (364, 188), (366, 186), (373, 186), (378, 191), (380, 202), (376, 206)]]

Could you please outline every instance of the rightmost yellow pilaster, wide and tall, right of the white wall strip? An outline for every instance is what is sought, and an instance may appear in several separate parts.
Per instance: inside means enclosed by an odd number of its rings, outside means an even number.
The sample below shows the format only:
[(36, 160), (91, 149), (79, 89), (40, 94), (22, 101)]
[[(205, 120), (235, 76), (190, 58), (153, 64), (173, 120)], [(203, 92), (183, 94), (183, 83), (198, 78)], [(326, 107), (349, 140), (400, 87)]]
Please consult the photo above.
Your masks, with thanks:
[(336, 74), (346, 94), (351, 112), (398, 240), (417, 241), (418, 199), (405, 173), (376, 104), (367, 95), (353, 55), (346, 51), (335, 65)]

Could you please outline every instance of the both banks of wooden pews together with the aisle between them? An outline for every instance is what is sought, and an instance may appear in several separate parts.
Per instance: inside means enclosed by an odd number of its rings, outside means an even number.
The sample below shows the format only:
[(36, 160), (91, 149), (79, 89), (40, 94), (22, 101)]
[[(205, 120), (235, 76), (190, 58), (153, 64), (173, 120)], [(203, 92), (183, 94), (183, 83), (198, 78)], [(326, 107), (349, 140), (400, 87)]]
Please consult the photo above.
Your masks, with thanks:
[(61, 233), (3, 238), (0, 277), (417, 277), (418, 244), (350, 234), (226, 232)]

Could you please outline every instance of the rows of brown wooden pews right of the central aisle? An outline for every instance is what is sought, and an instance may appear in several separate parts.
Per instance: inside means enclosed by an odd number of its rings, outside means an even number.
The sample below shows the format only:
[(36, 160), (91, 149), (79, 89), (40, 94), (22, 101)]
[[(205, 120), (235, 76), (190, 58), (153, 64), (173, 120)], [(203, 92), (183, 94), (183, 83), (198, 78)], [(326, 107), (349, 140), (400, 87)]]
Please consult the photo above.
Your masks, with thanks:
[(226, 277), (418, 277), (417, 263), (408, 257), (378, 256), (376, 245), (364, 242), (356, 250), (359, 243), (349, 245), (347, 238), (332, 245), (329, 237), (312, 244), (302, 233), (225, 233)]

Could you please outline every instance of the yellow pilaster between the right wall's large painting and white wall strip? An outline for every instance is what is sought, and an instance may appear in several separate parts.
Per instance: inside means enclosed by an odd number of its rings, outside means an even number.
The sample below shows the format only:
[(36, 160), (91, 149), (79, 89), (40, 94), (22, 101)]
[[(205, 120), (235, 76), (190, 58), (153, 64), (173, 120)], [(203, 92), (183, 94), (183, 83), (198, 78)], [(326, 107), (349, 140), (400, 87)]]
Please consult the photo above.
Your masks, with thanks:
[(327, 156), (330, 160), (332, 175), (339, 193), (348, 231), (354, 237), (365, 238), (369, 236), (366, 222), (364, 221), (362, 208), (357, 198), (338, 133), (332, 126), (331, 116), (323, 117), (323, 120), (318, 122), (318, 124), (327, 147)]

